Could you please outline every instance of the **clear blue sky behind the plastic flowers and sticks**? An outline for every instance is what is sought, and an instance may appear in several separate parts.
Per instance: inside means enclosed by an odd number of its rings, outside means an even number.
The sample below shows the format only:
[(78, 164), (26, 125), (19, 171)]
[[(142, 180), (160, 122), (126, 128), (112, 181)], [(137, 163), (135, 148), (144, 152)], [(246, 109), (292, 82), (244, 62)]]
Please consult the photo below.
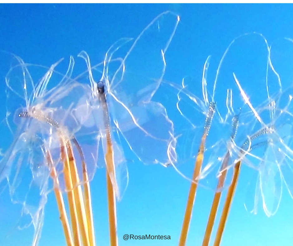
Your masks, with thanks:
[[(260, 32), (269, 43), (278, 38), (293, 38), (292, 5), (1, 4), (0, 49), (16, 54), (26, 62), (45, 66), (62, 57), (76, 57), (82, 50), (96, 61), (102, 61), (115, 41), (121, 37), (136, 37), (154, 17), (166, 10), (180, 16), (166, 55), (165, 77), (177, 83), (184, 76), (193, 76), (200, 81), (204, 61), (209, 55), (212, 55), (209, 73), (213, 81), (223, 52), (243, 33)], [(7, 64), (0, 64), (1, 118), (5, 115), (4, 75), (7, 67)], [(246, 86), (253, 88), (253, 84)], [(129, 185), (117, 204), (119, 245), (177, 245), (190, 183), (172, 168), (143, 165), (130, 151), (126, 152), (134, 161), (128, 164)], [(257, 215), (248, 213), (243, 205), (250, 179), (245, 176), (249, 174), (245, 169), (240, 174), (221, 245), (292, 245), (293, 202), (290, 196), (284, 189), (279, 211), (271, 218), (265, 216), (261, 207)], [(97, 245), (109, 245), (105, 169), (97, 171), (91, 187)], [(201, 245), (213, 195), (209, 190), (198, 189), (187, 245)], [(31, 228), (17, 231), (10, 223), (12, 219), (15, 219), (13, 209), (7, 192), (3, 192), (0, 245), (30, 245)], [(7, 229), (8, 225), (12, 228)], [(39, 245), (65, 245), (62, 231), (55, 197), (51, 193)], [(124, 241), (124, 234), (170, 235), (171, 240)]]

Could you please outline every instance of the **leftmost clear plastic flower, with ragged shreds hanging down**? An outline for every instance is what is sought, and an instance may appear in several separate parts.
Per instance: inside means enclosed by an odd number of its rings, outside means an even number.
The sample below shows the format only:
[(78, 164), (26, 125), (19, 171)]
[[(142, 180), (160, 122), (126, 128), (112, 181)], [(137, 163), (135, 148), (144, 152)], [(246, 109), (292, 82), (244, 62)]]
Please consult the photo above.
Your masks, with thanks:
[[(21, 205), (18, 227), (33, 225), (32, 244), (36, 245), (41, 235), (47, 194), (53, 188), (52, 167), (57, 171), (58, 189), (68, 191), (61, 149), (74, 140), (71, 148), (76, 156), (79, 177), (83, 177), (83, 156), (79, 147), (92, 150), (85, 157), (92, 178), (98, 142), (83, 132), (72, 114), (73, 108), (78, 107), (76, 103), (82, 101), (80, 97), (89, 91), (89, 87), (70, 79), (74, 66), (72, 57), (65, 75), (55, 71), (61, 61), (46, 68), (25, 64), (17, 56), (10, 58), (13, 63), (6, 76), (7, 113), (1, 128), (2, 136), (7, 135), (7, 138), (3, 145), (5, 154), (0, 161), (0, 181), (3, 184), (7, 180), (12, 203)], [(79, 134), (74, 137), (77, 132)], [(48, 154), (53, 159), (51, 164), (47, 162)], [(84, 181), (81, 178), (81, 182)]]

